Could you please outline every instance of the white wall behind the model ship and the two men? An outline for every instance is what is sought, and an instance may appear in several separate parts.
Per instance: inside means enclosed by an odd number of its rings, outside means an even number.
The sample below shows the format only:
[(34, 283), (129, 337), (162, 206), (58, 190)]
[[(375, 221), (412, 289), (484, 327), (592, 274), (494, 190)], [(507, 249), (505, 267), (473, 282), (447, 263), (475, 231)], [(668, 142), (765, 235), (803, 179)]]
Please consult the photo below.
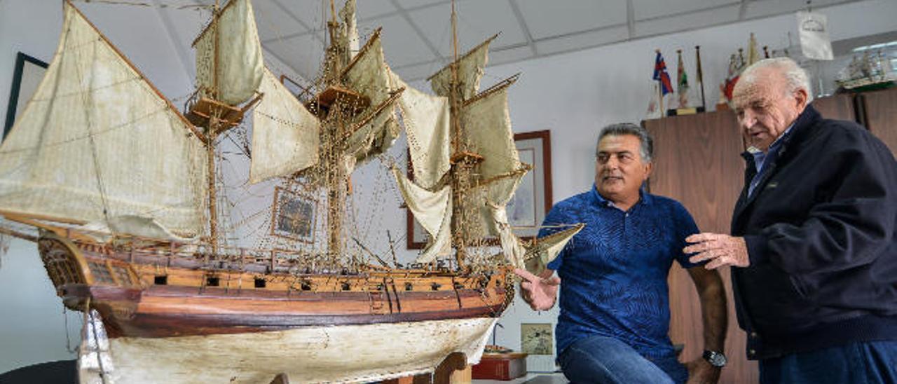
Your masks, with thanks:
[[(203, 14), (83, 2), (77, 6), (88, 17), (116, 14), (115, 18), (96, 18), (101, 21), (98, 27), (166, 96), (179, 99), (192, 91), (193, 56), (187, 47), (198, 27), (185, 25), (199, 25), (205, 20)], [(844, 4), (821, 12), (829, 17), (832, 39), (897, 30), (897, 19), (893, 18), (897, 2), (893, 0)], [(16, 52), (49, 61), (57, 46), (61, 19), (57, 1), (0, 0), (0, 116), (5, 116)], [(728, 55), (737, 47), (745, 47), (750, 32), (756, 33), (761, 46), (779, 48), (788, 44), (788, 31), (797, 36), (795, 25), (794, 15), (789, 14), (499, 65), (487, 69), (483, 83), (523, 73), (509, 92), (511, 118), (517, 132), (552, 130), (553, 194), (554, 200), (560, 201), (589, 188), (597, 129), (614, 122), (638, 122), (644, 116), (655, 48), (663, 51), (671, 76), (675, 76), (675, 49), (684, 48), (695, 89), (693, 47), (701, 45), (706, 99), (712, 105), (718, 98), (716, 83), (725, 75)], [(167, 26), (173, 30), (166, 32)], [(275, 72), (292, 72), (284, 71), (285, 66), (274, 60), (268, 63), (274, 65)], [(176, 100), (175, 104), (182, 102)], [(400, 144), (392, 153), (401, 159), (404, 151)], [(365, 178), (363, 174), (357, 176)], [(378, 196), (388, 208), (394, 198), (391, 194), (394, 192)], [(394, 239), (405, 233), (405, 211), (396, 209), (395, 213), (379, 223), (380, 231), (390, 229)], [(396, 250), (403, 260), (414, 255), (401, 245)], [(4, 310), (0, 317), (0, 372), (74, 357), (65, 351), (62, 306), (35, 247), (29, 243), (13, 240), (3, 257), (0, 308)], [(501, 319), (504, 328), (498, 331), (498, 342), (518, 349), (519, 323), (553, 322), (556, 316), (556, 310), (533, 312), (518, 299)], [(69, 327), (69, 334), (76, 339), (80, 327), (76, 315), (70, 316)], [(543, 359), (539, 366), (535, 363), (530, 362), (531, 369), (551, 368), (550, 358), (547, 362)]]

